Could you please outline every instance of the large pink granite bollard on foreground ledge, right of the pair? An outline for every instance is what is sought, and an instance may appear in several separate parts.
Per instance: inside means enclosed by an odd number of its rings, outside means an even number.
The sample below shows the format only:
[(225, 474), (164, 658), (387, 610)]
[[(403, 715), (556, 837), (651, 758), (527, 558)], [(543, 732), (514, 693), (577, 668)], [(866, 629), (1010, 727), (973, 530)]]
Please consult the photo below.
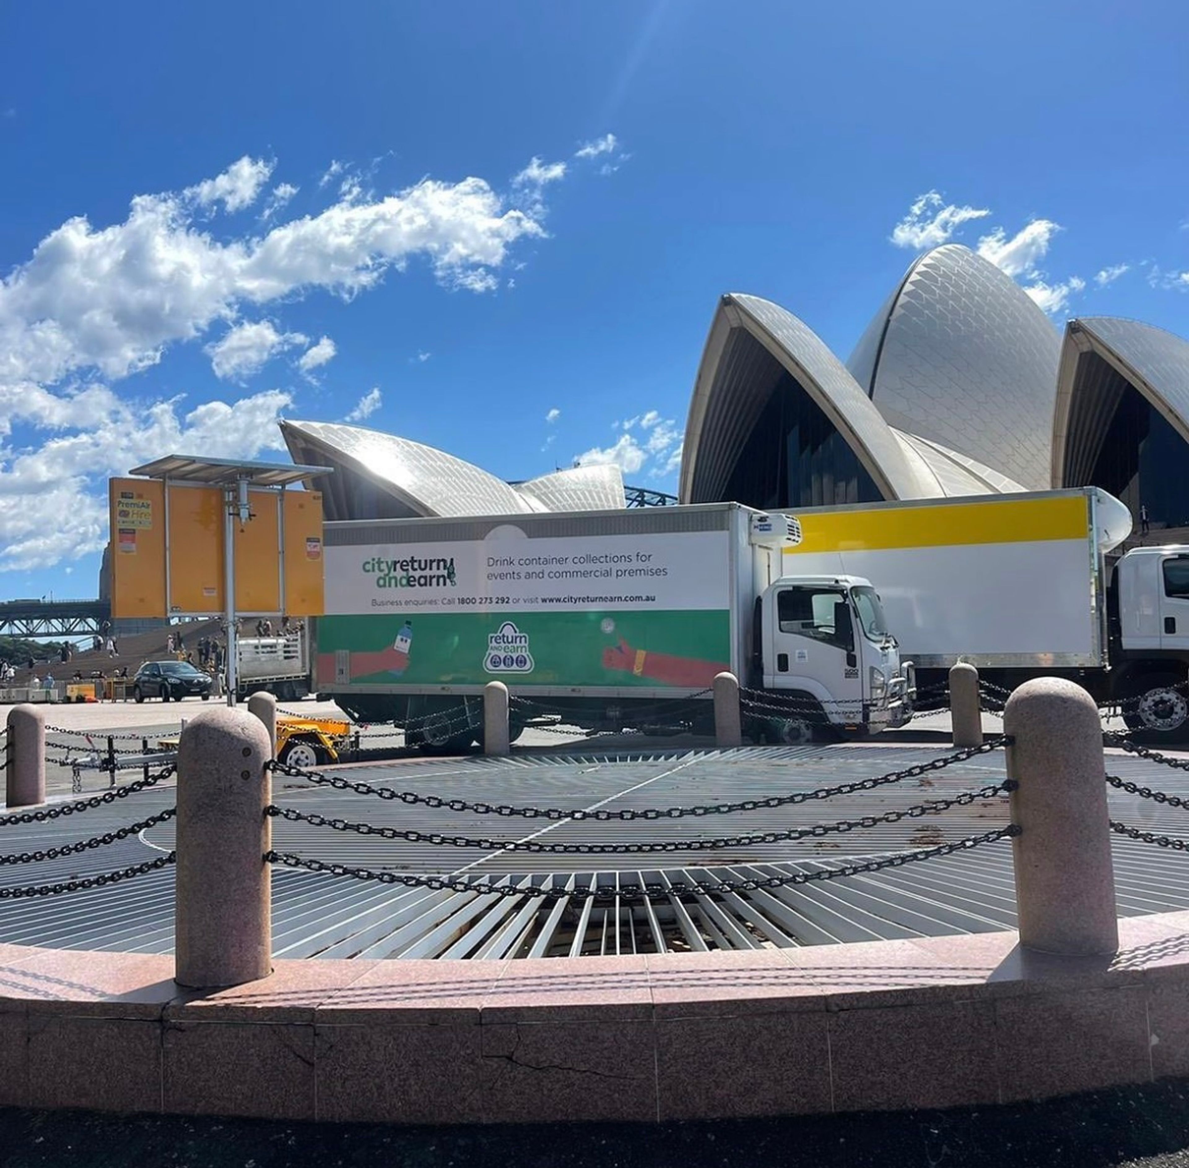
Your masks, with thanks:
[(1042, 953), (1115, 953), (1119, 923), (1102, 723), (1094, 698), (1063, 678), (1021, 685), (1004, 711), (1020, 944)]

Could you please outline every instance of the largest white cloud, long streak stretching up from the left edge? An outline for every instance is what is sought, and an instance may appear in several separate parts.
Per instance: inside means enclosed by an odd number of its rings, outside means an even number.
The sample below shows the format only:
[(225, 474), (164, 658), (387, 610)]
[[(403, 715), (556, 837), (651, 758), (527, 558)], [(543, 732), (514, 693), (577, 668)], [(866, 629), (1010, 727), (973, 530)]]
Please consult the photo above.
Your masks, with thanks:
[(482, 178), (424, 178), (227, 243), (196, 230), (182, 200), (141, 195), (121, 224), (68, 220), (0, 282), (0, 379), (56, 382), (87, 366), (122, 377), (241, 304), (310, 289), (350, 297), (415, 256), (447, 288), (487, 290), (509, 247), (541, 234)]

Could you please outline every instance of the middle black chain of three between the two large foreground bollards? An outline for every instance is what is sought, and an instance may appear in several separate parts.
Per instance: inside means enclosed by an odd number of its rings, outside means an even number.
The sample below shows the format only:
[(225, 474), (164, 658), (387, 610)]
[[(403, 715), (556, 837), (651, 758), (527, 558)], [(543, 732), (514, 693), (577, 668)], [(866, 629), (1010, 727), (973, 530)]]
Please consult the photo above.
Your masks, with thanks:
[(477, 848), (483, 852), (533, 852), (564, 855), (635, 855), (641, 852), (717, 852), (724, 848), (748, 848), (757, 843), (784, 843), (806, 840), (856, 828), (874, 828), (881, 823), (898, 823), (900, 820), (917, 820), (926, 815), (939, 815), (954, 806), (967, 806), (979, 799), (990, 799), (1005, 791), (1014, 791), (1015, 783), (999, 783), (979, 791), (965, 791), (951, 799), (930, 799), (904, 811), (886, 811), (883, 815), (867, 815), (861, 820), (842, 820), (838, 823), (818, 823), (809, 828), (791, 828), (785, 831), (765, 831), (760, 835), (734, 835), (716, 840), (668, 840), (642, 843), (541, 843), (536, 840), (489, 840), (471, 839), (465, 835), (442, 835), (439, 831), (416, 831), (401, 828), (379, 828), (371, 823), (352, 823), (348, 820), (331, 820), (325, 815), (307, 814), (294, 808), (270, 806), (268, 815), (294, 823), (309, 823), (315, 828), (333, 828), (335, 831), (354, 831), (357, 835), (376, 835), (382, 840), (407, 840), (410, 843), (434, 843), (452, 848)]

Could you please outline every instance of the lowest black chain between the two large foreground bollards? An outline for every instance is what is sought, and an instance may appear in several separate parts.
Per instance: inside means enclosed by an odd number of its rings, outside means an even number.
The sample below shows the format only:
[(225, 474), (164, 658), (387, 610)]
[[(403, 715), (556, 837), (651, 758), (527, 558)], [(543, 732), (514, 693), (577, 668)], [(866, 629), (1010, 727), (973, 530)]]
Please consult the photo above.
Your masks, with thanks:
[(983, 843), (993, 843), (1020, 834), (1015, 824), (996, 828), (982, 835), (967, 836), (956, 843), (943, 843), (936, 848), (924, 848), (919, 852), (901, 852), (880, 860), (867, 860), (861, 864), (848, 864), (839, 868), (823, 868), (818, 872), (798, 872), (785, 877), (757, 877), (750, 880), (674, 880), (672, 884), (648, 881), (644, 884), (579, 884), (573, 888), (541, 887), (527, 885), (515, 887), (503, 884), (460, 880), (457, 877), (414, 877), (401, 872), (375, 872), (371, 868), (352, 868), (345, 864), (327, 864), (325, 860), (307, 860), (291, 852), (266, 852), (264, 859), (270, 864), (281, 864), (288, 868), (306, 868), (309, 872), (329, 872), (331, 875), (352, 877), (356, 880), (377, 880), (379, 884), (400, 884), (409, 888), (433, 888), (436, 891), (474, 892), (499, 897), (534, 897), (548, 900), (574, 898), (589, 900), (596, 897), (682, 897), (693, 893), (715, 896), (729, 892), (757, 892), (765, 888), (786, 888), (799, 884), (813, 884), (819, 880), (837, 880), (839, 877), (863, 875), (880, 872), (883, 868), (899, 868), (906, 864), (935, 860), (938, 856), (952, 855), (955, 852), (969, 852)]

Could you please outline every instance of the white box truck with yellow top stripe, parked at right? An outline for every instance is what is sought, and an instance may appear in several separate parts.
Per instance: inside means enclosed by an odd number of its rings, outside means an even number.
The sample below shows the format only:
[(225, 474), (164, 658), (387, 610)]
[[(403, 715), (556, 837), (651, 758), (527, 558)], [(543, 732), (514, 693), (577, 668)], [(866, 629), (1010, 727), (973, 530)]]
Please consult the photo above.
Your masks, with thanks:
[(1133, 730), (1189, 740), (1189, 546), (1113, 555), (1132, 520), (1105, 491), (792, 514), (782, 570), (867, 577), (923, 695), (960, 660), (1004, 689), (1068, 677)]

